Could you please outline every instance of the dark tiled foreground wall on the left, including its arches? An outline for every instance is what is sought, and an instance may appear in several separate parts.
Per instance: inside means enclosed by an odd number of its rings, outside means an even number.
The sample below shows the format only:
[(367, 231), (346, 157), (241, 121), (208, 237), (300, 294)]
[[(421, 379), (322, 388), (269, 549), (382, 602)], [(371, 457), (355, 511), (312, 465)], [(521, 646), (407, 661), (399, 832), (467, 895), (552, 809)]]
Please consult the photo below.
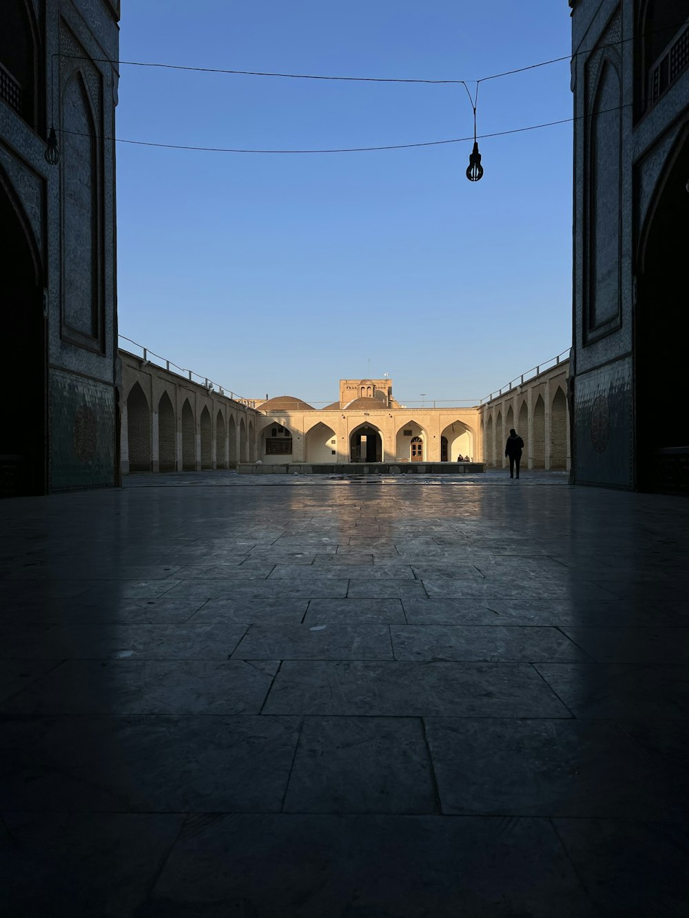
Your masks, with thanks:
[(119, 0), (3, 0), (0, 19), (0, 491), (113, 485)]

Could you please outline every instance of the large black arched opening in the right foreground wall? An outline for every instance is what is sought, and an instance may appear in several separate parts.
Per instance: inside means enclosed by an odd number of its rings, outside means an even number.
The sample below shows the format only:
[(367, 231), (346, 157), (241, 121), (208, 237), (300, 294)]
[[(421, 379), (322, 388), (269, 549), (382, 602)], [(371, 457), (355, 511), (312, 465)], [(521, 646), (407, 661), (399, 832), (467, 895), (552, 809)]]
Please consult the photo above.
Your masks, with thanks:
[[(636, 484), (686, 490), (689, 435), (677, 410), (686, 386), (689, 126), (663, 171), (641, 239), (636, 308)], [(658, 451), (661, 452), (658, 452)]]

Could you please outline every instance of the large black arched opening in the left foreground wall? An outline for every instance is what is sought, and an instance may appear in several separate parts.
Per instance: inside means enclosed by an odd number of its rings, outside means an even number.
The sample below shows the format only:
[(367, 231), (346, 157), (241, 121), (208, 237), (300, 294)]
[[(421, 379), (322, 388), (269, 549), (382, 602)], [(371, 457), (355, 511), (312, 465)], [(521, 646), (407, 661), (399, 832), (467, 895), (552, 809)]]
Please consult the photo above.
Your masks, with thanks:
[(43, 273), (28, 219), (0, 170), (3, 356), (0, 370), (0, 495), (44, 494), (46, 481), (46, 322)]

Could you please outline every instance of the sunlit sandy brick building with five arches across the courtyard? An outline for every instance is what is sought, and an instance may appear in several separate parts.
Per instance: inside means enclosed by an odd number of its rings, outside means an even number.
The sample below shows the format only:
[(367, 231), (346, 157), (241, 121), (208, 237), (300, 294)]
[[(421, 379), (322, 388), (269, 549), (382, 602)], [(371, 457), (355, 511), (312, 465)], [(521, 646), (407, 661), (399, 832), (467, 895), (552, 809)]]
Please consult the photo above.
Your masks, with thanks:
[(339, 400), (322, 409), (294, 396), (255, 408), (265, 416), (257, 431), (265, 464), (481, 460), (478, 406), (408, 409), (388, 377), (341, 379)]

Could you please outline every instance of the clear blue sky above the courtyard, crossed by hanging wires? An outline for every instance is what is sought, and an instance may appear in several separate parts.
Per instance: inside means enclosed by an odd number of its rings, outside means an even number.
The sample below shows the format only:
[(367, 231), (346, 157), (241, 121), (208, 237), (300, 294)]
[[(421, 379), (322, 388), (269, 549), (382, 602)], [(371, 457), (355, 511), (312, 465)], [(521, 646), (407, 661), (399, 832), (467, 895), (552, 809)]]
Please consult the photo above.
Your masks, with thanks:
[[(475, 80), (570, 52), (566, 0), (127, 0), (120, 58)], [(470, 88), (473, 88), (472, 86)], [(570, 65), (480, 84), (479, 134), (571, 117)], [(251, 149), (473, 133), (461, 85), (123, 65), (117, 135)], [(570, 347), (571, 124), (410, 150), (118, 144), (119, 330), (245, 397), (478, 400)]]

